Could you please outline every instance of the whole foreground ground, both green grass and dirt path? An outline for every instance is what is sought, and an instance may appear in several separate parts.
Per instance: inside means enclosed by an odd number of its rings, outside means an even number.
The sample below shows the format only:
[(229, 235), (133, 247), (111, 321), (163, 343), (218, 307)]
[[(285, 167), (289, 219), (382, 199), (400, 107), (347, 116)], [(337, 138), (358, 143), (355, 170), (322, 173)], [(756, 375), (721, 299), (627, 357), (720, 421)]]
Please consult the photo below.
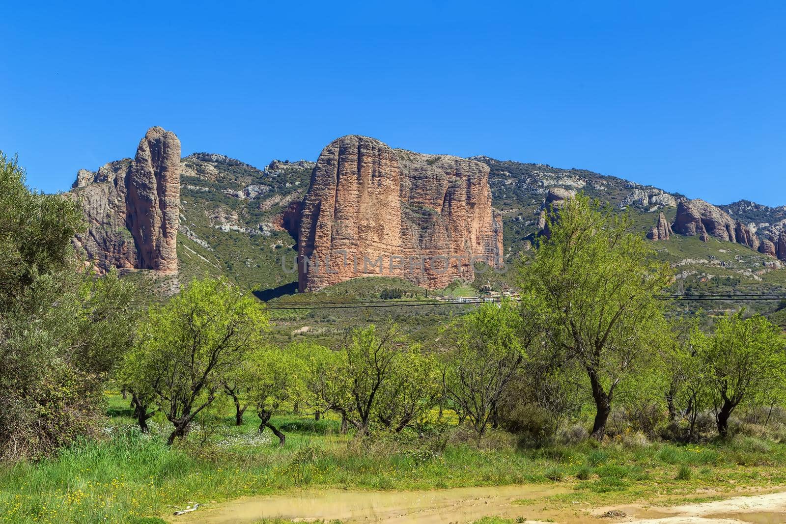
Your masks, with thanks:
[[(751, 504), (734, 519), (786, 522), (786, 496), (762, 494), (786, 491), (786, 445), (753, 436), (674, 445), (622, 435), (517, 449), (503, 432), (478, 447), (453, 422), (442, 436), (355, 442), (338, 420), (300, 413), (274, 419), (287, 434), (279, 446), (257, 433), (248, 410), (241, 426), (208, 416), (169, 448), (167, 424), (140, 434), (119, 394), (108, 414), (104, 438), (0, 464), (0, 522), (607, 522), (593, 515), (617, 508), (631, 516), (609, 521), (707, 524)], [(718, 502), (742, 495), (754, 497)]]

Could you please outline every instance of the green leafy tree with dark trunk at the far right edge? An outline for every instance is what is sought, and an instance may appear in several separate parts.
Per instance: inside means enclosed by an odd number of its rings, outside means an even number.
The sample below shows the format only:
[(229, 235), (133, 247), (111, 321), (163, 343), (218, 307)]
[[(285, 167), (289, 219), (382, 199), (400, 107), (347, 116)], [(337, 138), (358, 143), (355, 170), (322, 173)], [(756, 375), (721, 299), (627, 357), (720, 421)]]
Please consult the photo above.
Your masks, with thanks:
[(783, 387), (786, 352), (780, 329), (760, 315), (721, 318), (714, 333), (696, 330), (692, 345), (706, 374), (718, 434), (729, 434), (729, 416), (741, 402), (756, 402)]

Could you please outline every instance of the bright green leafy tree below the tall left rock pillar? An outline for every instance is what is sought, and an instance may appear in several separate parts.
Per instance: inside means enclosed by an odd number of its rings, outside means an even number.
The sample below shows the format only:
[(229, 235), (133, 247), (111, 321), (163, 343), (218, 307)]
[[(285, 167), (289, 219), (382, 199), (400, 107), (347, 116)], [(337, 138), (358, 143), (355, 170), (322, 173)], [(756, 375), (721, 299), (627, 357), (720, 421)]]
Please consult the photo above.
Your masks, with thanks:
[(150, 388), (182, 438), (225, 379), (263, 341), (263, 305), (225, 280), (193, 280), (167, 304), (154, 307), (141, 330), (141, 345), (129, 364), (138, 370), (130, 386)]

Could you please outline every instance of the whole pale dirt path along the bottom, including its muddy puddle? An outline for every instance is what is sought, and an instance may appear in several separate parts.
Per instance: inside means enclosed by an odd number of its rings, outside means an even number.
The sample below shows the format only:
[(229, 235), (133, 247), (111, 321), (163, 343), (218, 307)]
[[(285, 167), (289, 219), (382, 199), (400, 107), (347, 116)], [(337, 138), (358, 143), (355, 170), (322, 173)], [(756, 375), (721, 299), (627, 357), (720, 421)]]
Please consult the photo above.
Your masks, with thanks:
[[(435, 489), (430, 491), (350, 491), (330, 489), (303, 491), (281, 496), (247, 497), (215, 507), (204, 507), (171, 522), (228, 524), (282, 518), (309, 522), (340, 519), (342, 522), (421, 522), (448, 524), (472, 522), (487, 515), (526, 522), (626, 522), (631, 524), (782, 524), (786, 522), (786, 492), (732, 497), (702, 504), (670, 508), (626, 505), (608, 508), (586, 506), (556, 510), (541, 497), (567, 493), (564, 486), (502, 486)], [(513, 504), (514, 500), (531, 504)], [(606, 511), (622, 511), (625, 517), (599, 519)]]

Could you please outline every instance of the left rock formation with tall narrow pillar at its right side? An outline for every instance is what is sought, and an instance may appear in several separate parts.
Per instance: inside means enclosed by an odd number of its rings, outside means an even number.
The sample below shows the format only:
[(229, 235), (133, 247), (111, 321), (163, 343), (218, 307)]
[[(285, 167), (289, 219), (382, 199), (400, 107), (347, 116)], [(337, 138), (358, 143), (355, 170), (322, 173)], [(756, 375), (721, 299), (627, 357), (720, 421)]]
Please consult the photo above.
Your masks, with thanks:
[(151, 127), (134, 160), (79, 170), (71, 195), (82, 204), (88, 229), (74, 244), (101, 272), (152, 269), (178, 273), (180, 141)]

